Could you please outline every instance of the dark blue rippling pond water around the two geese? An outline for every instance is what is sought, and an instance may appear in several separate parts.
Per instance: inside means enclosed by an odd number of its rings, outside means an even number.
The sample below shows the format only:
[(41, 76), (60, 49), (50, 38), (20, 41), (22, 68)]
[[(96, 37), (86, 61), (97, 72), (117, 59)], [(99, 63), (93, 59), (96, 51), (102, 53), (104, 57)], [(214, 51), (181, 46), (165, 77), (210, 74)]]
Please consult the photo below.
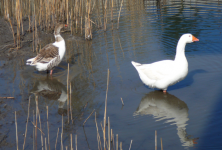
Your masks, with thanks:
[[(84, 128), (82, 124), (95, 109), (102, 138), (100, 122), (109, 68), (107, 116), (114, 135), (118, 134), (119, 142), (123, 142), (123, 149), (129, 148), (131, 140), (131, 149), (154, 149), (155, 130), (158, 149), (160, 138), (164, 149), (222, 149), (221, 24), (222, 2), (218, 0), (124, 2), (119, 30), (112, 31), (109, 23), (107, 32), (93, 32), (92, 41), (76, 40), (69, 33), (62, 35), (67, 53), (53, 79), (25, 66), (28, 58), (22, 58), (19, 63), (2, 61), (0, 95), (15, 99), (3, 100), (1, 104), (0, 148), (16, 148), (14, 111), (17, 111), (19, 148), (22, 149), (30, 96), (26, 149), (33, 149), (31, 121), (37, 98), (46, 139), (46, 106), (49, 107), (51, 149), (55, 147), (58, 128), (57, 149), (61, 147), (61, 114), (65, 115), (64, 148), (70, 146), (70, 134), (73, 134), (73, 143), (77, 134), (78, 149), (98, 149), (95, 114)], [(115, 28), (116, 25), (114, 21)], [(192, 33), (200, 40), (186, 46), (187, 77), (169, 87), (166, 95), (144, 86), (131, 61), (151, 63), (174, 59), (177, 41), (183, 33)], [(67, 117), (67, 62), (70, 63), (73, 124), (68, 124)], [(38, 94), (41, 88), (54, 89), (54, 93), (48, 97)], [(38, 149), (41, 149), (40, 135), (38, 132)]]

